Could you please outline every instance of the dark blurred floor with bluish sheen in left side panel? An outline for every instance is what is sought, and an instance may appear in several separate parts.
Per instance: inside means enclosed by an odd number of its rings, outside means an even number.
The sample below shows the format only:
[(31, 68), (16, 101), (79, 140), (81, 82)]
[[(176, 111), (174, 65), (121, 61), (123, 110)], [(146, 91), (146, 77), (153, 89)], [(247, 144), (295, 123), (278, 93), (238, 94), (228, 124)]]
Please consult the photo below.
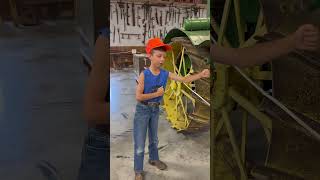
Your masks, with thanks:
[(86, 72), (70, 21), (0, 26), (0, 177), (44, 180), (37, 164), (76, 179), (86, 124)]

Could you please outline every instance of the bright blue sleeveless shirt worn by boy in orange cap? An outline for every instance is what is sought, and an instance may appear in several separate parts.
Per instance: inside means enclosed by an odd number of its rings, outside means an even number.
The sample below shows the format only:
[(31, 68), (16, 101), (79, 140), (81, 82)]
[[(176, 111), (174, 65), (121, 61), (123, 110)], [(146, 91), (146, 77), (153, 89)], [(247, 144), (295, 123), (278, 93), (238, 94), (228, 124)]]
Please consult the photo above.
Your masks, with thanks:
[[(144, 74), (143, 94), (156, 92), (157, 89), (161, 86), (163, 87), (163, 89), (166, 89), (167, 79), (169, 76), (168, 71), (160, 69), (160, 74), (155, 76), (152, 74), (150, 69), (145, 69), (143, 71), (143, 74)], [(145, 102), (160, 102), (161, 100), (162, 100), (162, 96), (145, 100)]]

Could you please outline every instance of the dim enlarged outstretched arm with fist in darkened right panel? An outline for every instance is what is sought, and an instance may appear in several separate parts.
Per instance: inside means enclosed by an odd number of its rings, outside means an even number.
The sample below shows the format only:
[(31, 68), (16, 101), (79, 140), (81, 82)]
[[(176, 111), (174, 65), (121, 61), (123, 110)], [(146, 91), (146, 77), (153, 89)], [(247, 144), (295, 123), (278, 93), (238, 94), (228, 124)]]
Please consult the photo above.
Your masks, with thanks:
[(294, 49), (316, 50), (317, 48), (319, 48), (319, 30), (313, 25), (304, 25), (285, 38), (253, 47), (235, 49), (212, 45), (210, 54), (215, 62), (247, 67), (271, 61)]

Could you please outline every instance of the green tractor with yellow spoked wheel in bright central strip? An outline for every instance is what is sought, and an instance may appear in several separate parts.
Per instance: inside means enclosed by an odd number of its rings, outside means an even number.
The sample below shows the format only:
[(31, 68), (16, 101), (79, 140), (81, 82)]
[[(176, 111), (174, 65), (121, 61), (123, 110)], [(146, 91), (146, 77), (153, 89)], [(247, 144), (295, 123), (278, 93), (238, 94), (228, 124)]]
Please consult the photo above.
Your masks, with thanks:
[[(210, 20), (188, 19), (183, 29), (171, 30), (165, 42), (173, 51), (167, 55), (164, 68), (188, 76), (210, 68)], [(208, 127), (210, 118), (210, 79), (192, 83), (168, 82), (164, 95), (167, 119), (178, 131)]]

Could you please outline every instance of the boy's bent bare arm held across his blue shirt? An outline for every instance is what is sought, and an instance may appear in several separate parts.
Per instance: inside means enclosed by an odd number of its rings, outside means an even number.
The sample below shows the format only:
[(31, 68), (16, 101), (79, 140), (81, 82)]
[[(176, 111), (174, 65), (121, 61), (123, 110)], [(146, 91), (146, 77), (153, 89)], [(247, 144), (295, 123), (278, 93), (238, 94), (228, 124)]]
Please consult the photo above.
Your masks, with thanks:
[(136, 89), (136, 99), (137, 101), (145, 101), (148, 99), (156, 98), (159, 96), (162, 96), (164, 94), (164, 89), (163, 87), (160, 87), (156, 92), (154, 93), (148, 93), (148, 94), (143, 94), (143, 89), (144, 89), (144, 74), (141, 73), (138, 79), (138, 85)]

